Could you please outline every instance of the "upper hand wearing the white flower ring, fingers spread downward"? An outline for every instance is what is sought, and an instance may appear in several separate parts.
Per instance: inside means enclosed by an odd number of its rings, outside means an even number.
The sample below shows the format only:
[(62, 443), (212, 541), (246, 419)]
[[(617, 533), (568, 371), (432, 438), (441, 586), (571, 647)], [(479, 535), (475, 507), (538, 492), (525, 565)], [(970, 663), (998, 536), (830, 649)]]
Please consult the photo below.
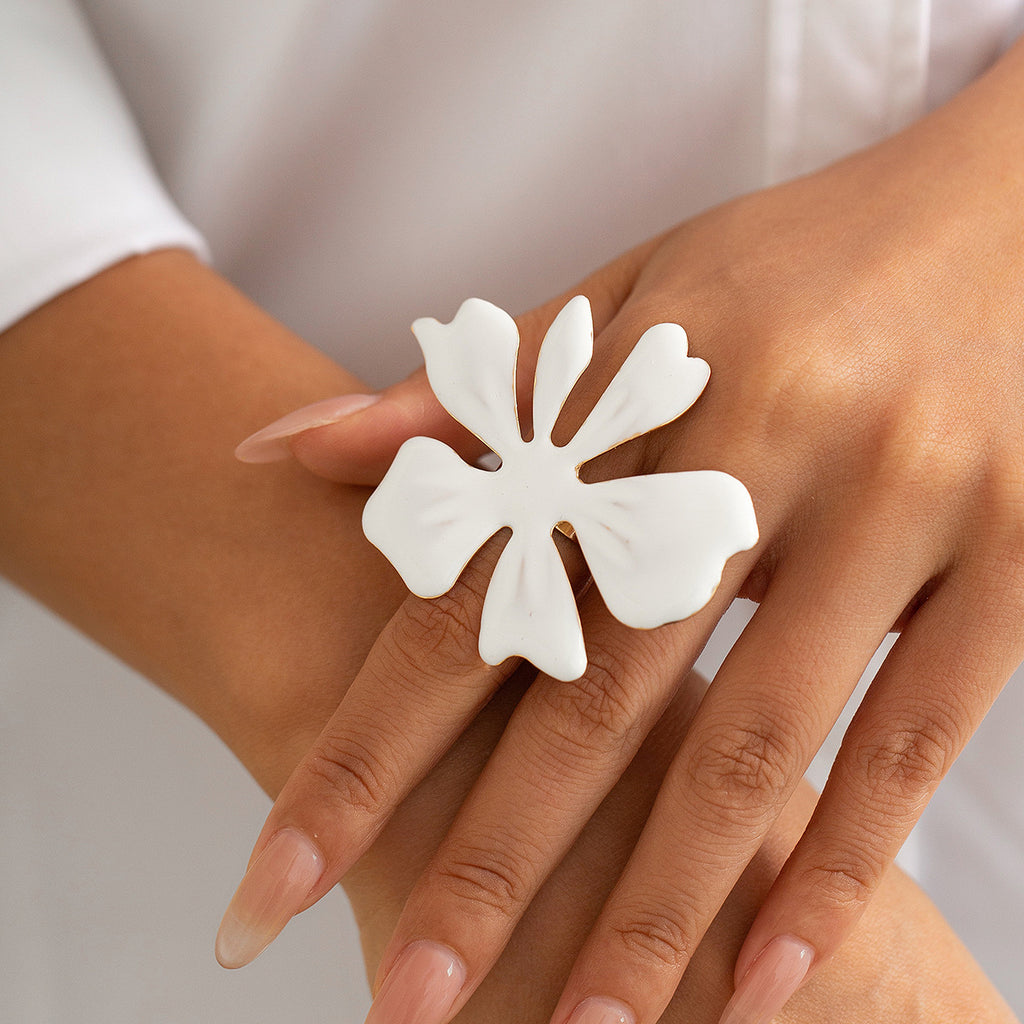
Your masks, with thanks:
[[(638, 1024), (657, 1019), (898, 625), (902, 637), (739, 953), (740, 987), (757, 987), (782, 956), (796, 988), (853, 928), (1024, 654), (1022, 78), (1018, 46), (900, 136), (698, 217), (573, 290), (592, 299), (604, 364), (563, 416), (560, 439), (644, 328), (684, 324), (713, 368), (707, 393), (678, 424), (592, 471), (725, 470), (753, 494), (762, 541), (730, 562), (705, 611), (652, 633), (621, 627), (593, 592), (584, 598), (588, 673), (530, 687), (385, 952), (382, 977), (418, 939), (458, 953), (465, 983), (445, 990), (430, 1020), (479, 984), (736, 593), (761, 607), (666, 776), (555, 1020), (590, 997), (614, 1000)], [(520, 322), (535, 353), (561, 303)], [(382, 402), (339, 424), (333, 440), (310, 432), (293, 449), (337, 475), (338, 437), (354, 443), (382, 422), (378, 436), (400, 432), (403, 409)], [(429, 410), (424, 422), (436, 422)], [(319, 858), (310, 898), (367, 848), (510, 671), (475, 655), (496, 547), (444, 598), (403, 605), (271, 812), (256, 853), (272, 837), (305, 837)]]

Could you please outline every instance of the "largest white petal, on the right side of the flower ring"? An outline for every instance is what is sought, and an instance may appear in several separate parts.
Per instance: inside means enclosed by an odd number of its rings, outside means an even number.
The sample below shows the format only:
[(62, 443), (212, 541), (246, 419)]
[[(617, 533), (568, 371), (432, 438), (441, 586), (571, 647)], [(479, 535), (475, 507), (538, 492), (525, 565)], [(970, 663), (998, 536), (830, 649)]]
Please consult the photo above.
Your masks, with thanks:
[(688, 618), (713, 597), (726, 561), (758, 541), (746, 488), (701, 470), (587, 487), (571, 520), (608, 610), (636, 629)]

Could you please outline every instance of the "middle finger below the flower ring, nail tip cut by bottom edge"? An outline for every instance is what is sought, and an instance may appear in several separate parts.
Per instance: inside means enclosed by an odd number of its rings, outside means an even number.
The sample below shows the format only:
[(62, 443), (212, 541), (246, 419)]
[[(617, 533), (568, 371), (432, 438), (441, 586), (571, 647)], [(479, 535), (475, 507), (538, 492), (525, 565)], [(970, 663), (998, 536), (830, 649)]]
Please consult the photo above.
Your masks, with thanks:
[[(737, 578), (743, 571), (734, 568)], [(419, 992), (418, 1019), (441, 1024), (470, 997), (677, 691), (679, 667), (694, 659), (737, 585), (727, 580), (700, 615), (642, 641), (588, 594), (587, 672), (568, 683), (542, 676), (520, 701), (409, 898), (381, 961), (371, 1020), (392, 1019)]]

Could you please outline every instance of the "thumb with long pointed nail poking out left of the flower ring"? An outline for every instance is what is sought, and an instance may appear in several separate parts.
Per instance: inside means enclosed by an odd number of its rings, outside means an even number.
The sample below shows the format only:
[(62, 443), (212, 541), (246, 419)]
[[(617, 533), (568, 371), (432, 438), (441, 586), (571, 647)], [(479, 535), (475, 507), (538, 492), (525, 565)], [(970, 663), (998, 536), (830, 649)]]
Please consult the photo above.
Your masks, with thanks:
[(329, 480), (376, 484), (402, 443), (418, 435), (436, 437), (469, 460), (486, 451), (444, 411), (421, 368), (376, 394), (343, 394), (289, 413), (247, 437), (234, 456), (248, 463), (294, 456)]

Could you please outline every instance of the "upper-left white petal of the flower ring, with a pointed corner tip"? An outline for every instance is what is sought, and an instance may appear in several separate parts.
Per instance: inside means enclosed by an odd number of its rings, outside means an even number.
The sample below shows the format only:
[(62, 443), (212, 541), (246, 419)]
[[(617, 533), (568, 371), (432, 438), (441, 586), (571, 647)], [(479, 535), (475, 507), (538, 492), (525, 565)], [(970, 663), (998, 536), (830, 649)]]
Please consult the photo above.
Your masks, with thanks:
[(521, 442), (515, 408), (519, 331), (505, 310), (467, 299), (451, 324), (413, 324), (437, 400), (499, 455)]

